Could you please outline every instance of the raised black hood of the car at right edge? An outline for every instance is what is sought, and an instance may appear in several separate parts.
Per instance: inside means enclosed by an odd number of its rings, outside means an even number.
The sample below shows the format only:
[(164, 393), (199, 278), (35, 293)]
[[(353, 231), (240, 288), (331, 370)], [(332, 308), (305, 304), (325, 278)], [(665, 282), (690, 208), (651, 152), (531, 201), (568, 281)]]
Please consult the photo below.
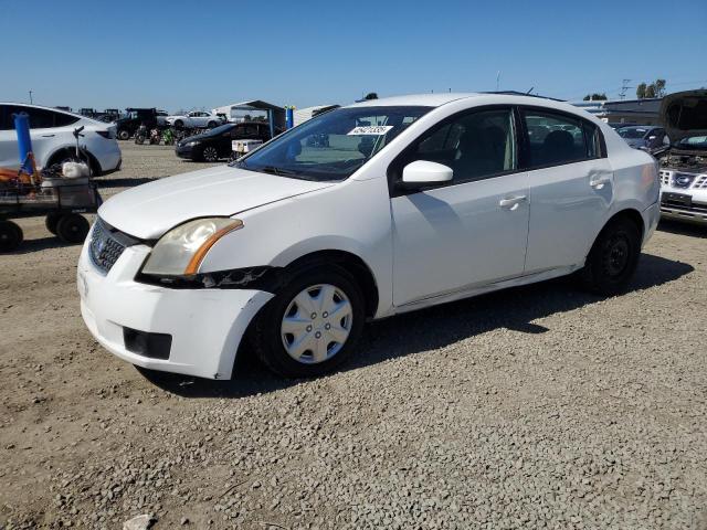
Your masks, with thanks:
[(671, 142), (707, 136), (707, 89), (676, 92), (661, 102), (661, 119)]

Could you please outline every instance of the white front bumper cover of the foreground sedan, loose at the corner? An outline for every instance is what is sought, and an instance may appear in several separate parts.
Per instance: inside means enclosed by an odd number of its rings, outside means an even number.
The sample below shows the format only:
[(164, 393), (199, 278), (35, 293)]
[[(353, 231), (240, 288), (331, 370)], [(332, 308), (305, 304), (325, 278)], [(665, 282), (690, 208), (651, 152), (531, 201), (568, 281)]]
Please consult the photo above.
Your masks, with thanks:
[[(89, 239), (87, 240), (89, 241)], [(170, 289), (136, 282), (150, 248), (127, 247), (107, 274), (84, 245), (77, 284), (81, 314), (101, 344), (139, 367), (209, 379), (229, 379), (252, 318), (273, 297), (252, 289)], [(125, 332), (169, 335), (167, 359), (126, 347)], [(129, 344), (128, 344), (129, 346)]]

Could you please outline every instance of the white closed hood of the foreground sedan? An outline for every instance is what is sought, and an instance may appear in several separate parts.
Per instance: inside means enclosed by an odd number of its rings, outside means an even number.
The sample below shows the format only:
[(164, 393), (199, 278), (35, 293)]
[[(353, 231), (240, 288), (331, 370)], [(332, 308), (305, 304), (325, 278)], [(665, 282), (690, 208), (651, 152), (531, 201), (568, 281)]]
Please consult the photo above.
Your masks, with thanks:
[(191, 219), (230, 216), (330, 186), (218, 166), (124, 191), (107, 200), (98, 215), (135, 237), (156, 240)]

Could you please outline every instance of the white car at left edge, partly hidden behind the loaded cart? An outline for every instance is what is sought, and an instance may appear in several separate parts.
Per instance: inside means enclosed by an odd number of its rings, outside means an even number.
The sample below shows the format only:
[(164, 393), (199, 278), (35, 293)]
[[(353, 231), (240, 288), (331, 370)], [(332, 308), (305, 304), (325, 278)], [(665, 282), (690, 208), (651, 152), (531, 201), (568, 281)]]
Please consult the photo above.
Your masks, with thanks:
[(88, 151), (93, 173), (104, 174), (120, 168), (120, 148), (115, 139), (115, 125), (104, 124), (55, 108), (0, 103), (0, 167), (20, 166), (18, 137), (13, 115), (27, 113), (34, 160), (40, 168), (72, 158), (76, 152), (73, 131), (84, 127), (81, 146)]

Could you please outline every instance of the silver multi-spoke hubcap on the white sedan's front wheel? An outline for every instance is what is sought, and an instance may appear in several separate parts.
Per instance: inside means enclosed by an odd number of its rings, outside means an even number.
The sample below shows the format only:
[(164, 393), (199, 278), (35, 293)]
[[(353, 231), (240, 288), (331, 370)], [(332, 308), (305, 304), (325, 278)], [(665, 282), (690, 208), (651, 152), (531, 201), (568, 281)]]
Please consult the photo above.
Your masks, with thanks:
[(287, 306), (281, 337), (287, 354), (314, 364), (336, 356), (351, 332), (354, 311), (346, 294), (329, 284), (313, 285)]

